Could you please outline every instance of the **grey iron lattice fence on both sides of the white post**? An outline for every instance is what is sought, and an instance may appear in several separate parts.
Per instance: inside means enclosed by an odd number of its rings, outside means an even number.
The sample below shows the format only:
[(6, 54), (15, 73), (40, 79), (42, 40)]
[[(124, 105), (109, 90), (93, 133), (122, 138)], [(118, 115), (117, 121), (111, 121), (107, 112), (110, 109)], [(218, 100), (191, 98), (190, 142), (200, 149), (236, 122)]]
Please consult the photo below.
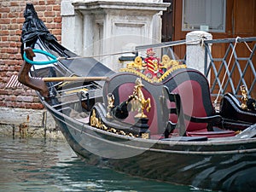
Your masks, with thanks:
[[(256, 94), (256, 72), (255, 64), (255, 49), (256, 37), (253, 38), (225, 38), (204, 40), (205, 45), (205, 68), (204, 74), (209, 78), (210, 91), (212, 96), (224, 96), (226, 92), (231, 92), (237, 97), (241, 97), (240, 87), (244, 85), (248, 96), (252, 93)], [(162, 54), (171, 55), (172, 58), (177, 56), (174, 53), (173, 47), (181, 44), (186, 44), (186, 40), (172, 41), (161, 44), (150, 44), (137, 46), (136, 50), (148, 48), (161, 48)], [(212, 52), (218, 49), (218, 46), (223, 45), (223, 55), (220, 57), (212, 56)], [(247, 55), (238, 55), (239, 51), (236, 50), (237, 44), (244, 44), (244, 49), (247, 49)], [(211, 50), (212, 47), (212, 50)], [(219, 55), (219, 54), (218, 54)], [(184, 58), (177, 59), (178, 61), (186, 63), (186, 54)], [(247, 75), (251, 78), (247, 80)]]

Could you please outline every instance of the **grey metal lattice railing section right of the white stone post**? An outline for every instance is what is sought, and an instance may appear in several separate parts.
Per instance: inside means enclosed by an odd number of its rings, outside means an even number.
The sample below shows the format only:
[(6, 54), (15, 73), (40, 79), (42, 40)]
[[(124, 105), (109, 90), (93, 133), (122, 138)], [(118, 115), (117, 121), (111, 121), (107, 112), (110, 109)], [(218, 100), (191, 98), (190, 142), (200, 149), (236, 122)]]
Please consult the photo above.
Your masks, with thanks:
[[(256, 72), (255, 64), (253, 64), (253, 60), (256, 61), (255, 42), (256, 37), (227, 38), (204, 41), (206, 48), (204, 73), (207, 77), (211, 78), (212, 96), (224, 96), (224, 94), (228, 91), (240, 97), (241, 85), (246, 87), (248, 95), (251, 95), (252, 93), (255, 94)], [(236, 45), (241, 43), (246, 45), (245, 49), (247, 49), (247, 56), (237, 55)], [(214, 44), (225, 44), (227, 46), (222, 58), (212, 57), (210, 47), (212, 45), (212, 51), (214, 51)], [(248, 44), (250, 44), (250, 46)], [(241, 63), (243, 63), (242, 66)], [(246, 80), (246, 75), (248, 75), (248, 73), (250, 73), (249, 75), (252, 79), (250, 81)], [(238, 82), (234, 82), (235, 79), (238, 79)], [(218, 90), (218, 93), (216, 93), (216, 90)]]

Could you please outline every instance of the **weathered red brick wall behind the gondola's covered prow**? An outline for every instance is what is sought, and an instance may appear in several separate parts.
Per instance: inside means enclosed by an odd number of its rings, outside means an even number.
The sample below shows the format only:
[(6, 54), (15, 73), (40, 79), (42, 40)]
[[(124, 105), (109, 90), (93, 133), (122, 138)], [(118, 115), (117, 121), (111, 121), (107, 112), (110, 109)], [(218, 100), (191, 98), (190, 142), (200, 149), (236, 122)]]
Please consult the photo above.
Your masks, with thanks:
[(20, 34), (26, 3), (33, 3), (38, 17), (61, 42), (61, 0), (0, 2), (0, 107), (41, 109), (34, 90), (4, 89), (10, 77), (20, 71)]

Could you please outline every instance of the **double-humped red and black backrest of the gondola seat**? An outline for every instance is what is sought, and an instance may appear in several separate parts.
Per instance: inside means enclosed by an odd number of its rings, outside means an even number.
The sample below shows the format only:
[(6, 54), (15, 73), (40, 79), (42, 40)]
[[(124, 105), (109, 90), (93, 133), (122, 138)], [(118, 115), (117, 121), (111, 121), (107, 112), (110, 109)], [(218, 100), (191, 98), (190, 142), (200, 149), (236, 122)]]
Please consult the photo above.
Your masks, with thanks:
[[(134, 85), (138, 76), (133, 73), (116, 73), (103, 87), (103, 102), (108, 103), (108, 93), (114, 96), (114, 106), (125, 102), (131, 96)], [(209, 85), (207, 79), (194, 69), (178, 69), (171, 73), (166, 79), (160, 83), (150, 83), (142, 79), (144, 84), (143, 94), (145, 98), (150, 98), (151, 110), (149, 113), (144, 112), (148, 116), (148, 125), (151, 134), (162, 134), (166, 129), (166, 121), (168, 118), (175, 122), (176, 117), (169, 114), (163, 114), (160, 95), (164, 85), (168, 87), (171, 93), (180, 95), (183, 103), (183, 113), (189, 116), (207, 117), (214, 113), (212, 101), (210, 97)], [(134, 115), (130, 112), (125, 122), (134, 124)], [(167, 116), (166, 116), (167, 115)], [(207, 124), (192, 123), (185, 121), (187, 131), (197, 131), (207, 128)]]

